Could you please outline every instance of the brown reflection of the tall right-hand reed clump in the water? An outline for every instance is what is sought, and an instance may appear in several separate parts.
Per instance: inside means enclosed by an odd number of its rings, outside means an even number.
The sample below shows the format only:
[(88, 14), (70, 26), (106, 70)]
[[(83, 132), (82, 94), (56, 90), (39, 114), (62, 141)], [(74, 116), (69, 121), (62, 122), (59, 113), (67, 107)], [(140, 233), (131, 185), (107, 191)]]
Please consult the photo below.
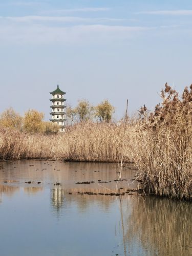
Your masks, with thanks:
[(159, 198), (135, 198), (126, 219), (126, 241), (135, 238), (152, 255), (191, 255), (192, 205)]

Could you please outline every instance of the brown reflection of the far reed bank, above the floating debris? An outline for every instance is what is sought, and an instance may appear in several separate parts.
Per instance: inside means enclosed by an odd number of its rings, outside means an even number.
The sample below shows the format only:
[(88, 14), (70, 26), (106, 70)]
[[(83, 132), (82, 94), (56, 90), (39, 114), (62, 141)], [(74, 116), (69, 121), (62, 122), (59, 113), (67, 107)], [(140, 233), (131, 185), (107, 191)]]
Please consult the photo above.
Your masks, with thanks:
[[(17, 184), (31, 181), (44, 183), (44, 187), (52, 187), (56, 182), (62, 183), (62, 188), (87, 188), (89, 186), (76, 185), (77, 182), (94, 181), (93, 188), (98, 187), (98, 181), (106, 182), (100, 185), (109, 189), (115, 189), (119, 171), (116, 163), (70, 163), (60, 161), (36, 161), (23, 160), (14, 162), (5, 162), (4, 170), (0, 169), (0, 182), (14, 179)], [(135, 175), (134, 170), (125, 170), (122, 178), (125, 179), (122, 186), (128, 186), (131, 183), (131, 188), (135, 188), (131, 179)], [(50, 185), (50, 186), (49, 186)]]

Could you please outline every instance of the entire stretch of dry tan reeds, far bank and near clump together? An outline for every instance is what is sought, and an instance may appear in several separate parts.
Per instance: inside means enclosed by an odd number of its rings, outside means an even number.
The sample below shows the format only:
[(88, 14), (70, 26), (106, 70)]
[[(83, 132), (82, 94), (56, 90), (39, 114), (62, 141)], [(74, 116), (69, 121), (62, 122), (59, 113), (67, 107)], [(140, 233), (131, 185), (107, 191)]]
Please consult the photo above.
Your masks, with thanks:
[(134, 162), (146, 194), (192, 198), (192, 86), (182, 98), (167, 84), (162, 104), (126, 123), (82, 122), (65, 134), (25, 134), (0, 128), (0, 159)]

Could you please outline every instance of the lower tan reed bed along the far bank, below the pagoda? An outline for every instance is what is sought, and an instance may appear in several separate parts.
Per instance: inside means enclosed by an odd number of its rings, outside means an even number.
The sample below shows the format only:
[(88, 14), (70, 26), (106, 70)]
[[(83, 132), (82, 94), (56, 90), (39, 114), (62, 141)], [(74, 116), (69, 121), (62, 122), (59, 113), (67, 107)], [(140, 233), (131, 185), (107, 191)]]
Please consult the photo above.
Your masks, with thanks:
[(118, 162), (130, 133), (122, 125), (80, 123), (65, 134), (30, 135), (0, 129), (0, 159), (55, 158), (68, 161)]

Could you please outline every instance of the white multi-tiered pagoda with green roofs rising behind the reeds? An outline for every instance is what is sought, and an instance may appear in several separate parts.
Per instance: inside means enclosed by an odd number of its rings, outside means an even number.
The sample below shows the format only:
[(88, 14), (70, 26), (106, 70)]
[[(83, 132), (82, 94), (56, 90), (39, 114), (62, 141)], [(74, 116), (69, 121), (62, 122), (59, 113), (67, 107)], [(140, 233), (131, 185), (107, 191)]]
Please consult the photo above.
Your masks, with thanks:
[(65, 121), (66, 121), (65, 119), (66, 105), (64, 105), (64, 101), (66, 101), (66, 99), (64, 99), (64, 95), (66, 93), (62, 92), (59, 89), (59, 86), (57, 85), (57, 89), (51, 92), (50, 94), (52, 95), (52, 99), (50, 99), (52, 101), (52, 105), (50, 106), (50, 108), (52, 109), (50, 113), (52, 115), (52, 119), (50, 119), (50, 121), (52, 121), (53, 125), (59, 126), (60, 132), (64, 132)]

